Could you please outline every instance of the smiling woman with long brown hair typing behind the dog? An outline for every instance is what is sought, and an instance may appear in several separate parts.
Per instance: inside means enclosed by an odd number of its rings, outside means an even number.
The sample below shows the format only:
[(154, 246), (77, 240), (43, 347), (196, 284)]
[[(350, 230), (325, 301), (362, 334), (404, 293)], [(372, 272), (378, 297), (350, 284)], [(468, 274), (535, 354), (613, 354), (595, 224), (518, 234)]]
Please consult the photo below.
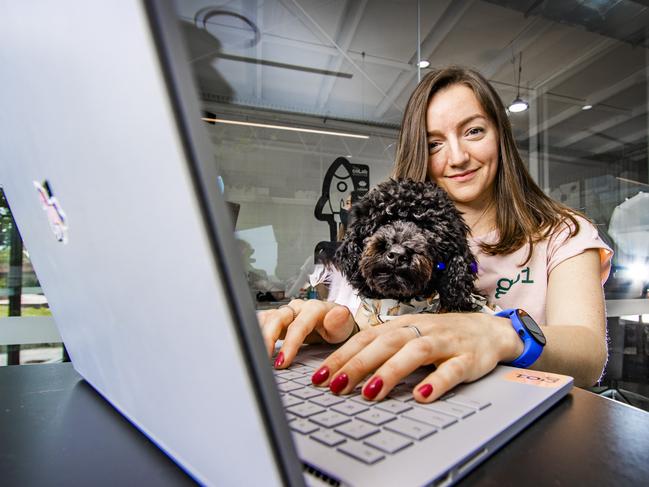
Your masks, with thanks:
[[(533, 182), (502, 101), (480, 74), (448, 67), (424, 77), (404, 112), (393, 176), (433, 180), (463, 213), (478, 288), (501, 308), (522, 308), (541, 325), (547, 345), (534, 369), (594, 384), (607, 359), (602, 285), (611, 250), (592, 224)], [(346, 394), (364, 380), (363, 395), (372, 400), (434, 364), (413, 389), (417, 401), (431, 402), (527, 353), (508, 318), (485, 313), (400, 316), (354, 334), (347, 307), (296, 300), (261, 314), (260, 324), (269, 352), (285, 335), (277, 368), (287, 367), (313, 334), (329, 343), (353, 334), (313, 382)]]

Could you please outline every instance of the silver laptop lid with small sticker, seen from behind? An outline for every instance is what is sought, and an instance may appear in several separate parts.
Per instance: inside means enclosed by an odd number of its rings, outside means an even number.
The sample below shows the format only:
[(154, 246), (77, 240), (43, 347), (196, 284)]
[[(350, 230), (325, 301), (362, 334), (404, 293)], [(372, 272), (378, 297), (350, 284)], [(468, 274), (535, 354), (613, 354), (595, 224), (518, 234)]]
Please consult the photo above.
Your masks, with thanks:
[(0, 18), (0, 184), (76, 370), (197, 481), (302, 483), (169, 2)]

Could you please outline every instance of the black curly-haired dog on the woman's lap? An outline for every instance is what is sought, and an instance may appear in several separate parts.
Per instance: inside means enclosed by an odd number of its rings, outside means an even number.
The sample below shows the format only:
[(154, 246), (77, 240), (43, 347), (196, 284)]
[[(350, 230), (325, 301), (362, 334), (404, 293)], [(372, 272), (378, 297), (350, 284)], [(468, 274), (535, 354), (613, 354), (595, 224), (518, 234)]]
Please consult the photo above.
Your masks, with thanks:
[(334, 262), (362, 297), (407, 301), (438, 293), (440, 310), (472, 311), (477, 266), (468, 233), (435, 183), (391, 179), (353, 206)]

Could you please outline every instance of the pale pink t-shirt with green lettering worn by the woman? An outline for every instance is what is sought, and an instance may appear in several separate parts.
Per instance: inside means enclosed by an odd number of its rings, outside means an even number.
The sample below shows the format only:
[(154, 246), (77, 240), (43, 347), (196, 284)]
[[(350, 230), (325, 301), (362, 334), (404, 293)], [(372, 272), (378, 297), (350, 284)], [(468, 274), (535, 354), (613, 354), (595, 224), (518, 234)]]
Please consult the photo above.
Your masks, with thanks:
[(585, 250), (599, 249), (603, 285), (611, 268), (613, 251), (590, 222), (576, 218), (580, 227), (577, 235), (567, 238), (568, 228), (563, 226), (558, 233), (534, 245), (532, 258), (525, 265), (521, 264), (527, 257), (527, 245), (507, 255), (487, 255), (480, 250), (481, 242), (496, 242), (496, 230), (482, 237), (469, 238), (478, 261), (478, 290), (490, 303), (503, 309), (524, 309), (537, 323), (544, 325), (548, 279), (557, 265)]

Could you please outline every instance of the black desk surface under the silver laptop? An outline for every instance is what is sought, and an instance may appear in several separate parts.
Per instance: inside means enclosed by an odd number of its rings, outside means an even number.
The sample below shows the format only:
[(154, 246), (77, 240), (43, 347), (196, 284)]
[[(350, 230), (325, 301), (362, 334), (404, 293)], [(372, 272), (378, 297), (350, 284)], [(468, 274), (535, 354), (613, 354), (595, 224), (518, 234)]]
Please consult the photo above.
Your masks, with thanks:
[[(1, 485), (191, 485), (70, 364), (0, 367)], [(647, 485), (649, 413), (580, 389), (462, 485)]]

